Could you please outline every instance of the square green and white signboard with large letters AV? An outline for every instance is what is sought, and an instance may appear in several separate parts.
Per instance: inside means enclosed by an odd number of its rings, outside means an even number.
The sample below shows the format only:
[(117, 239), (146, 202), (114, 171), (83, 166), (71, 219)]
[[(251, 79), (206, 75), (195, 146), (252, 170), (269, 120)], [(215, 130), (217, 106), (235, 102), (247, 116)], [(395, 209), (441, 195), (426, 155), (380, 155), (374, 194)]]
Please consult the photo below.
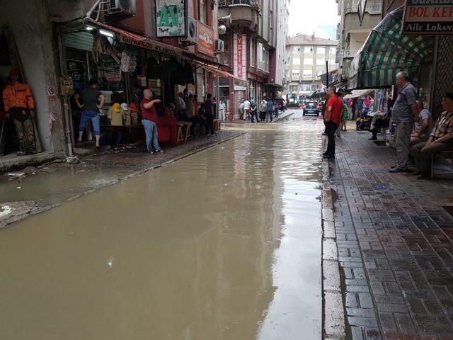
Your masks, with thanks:
[(187, 35), (187, 0), (154, 0), (157, 38)]

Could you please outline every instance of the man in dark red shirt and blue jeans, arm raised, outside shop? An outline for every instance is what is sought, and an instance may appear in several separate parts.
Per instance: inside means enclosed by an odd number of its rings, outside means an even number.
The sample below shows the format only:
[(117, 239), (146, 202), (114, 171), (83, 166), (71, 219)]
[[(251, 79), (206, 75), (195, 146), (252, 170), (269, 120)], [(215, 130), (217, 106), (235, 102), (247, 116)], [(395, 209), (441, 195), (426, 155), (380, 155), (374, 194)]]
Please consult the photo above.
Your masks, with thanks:
[(144, 132), (147, 135), (147, 150), (150, 154), (154, 152), (151, 149), (151, 142), (154, 145), (156, 152), (164, 152), (161, 147), (159, 147), (159, 142), (157, 140), (157, 125), (156, 121), (156, 109), (154, 105), (160, 103), (160, 99), (152, 99), (153, 93), (150, 89), (144, 89), (143, 91), (142, 103), (140, 103), (140, 111), (142, 112), (142, 124), (144, 126)]

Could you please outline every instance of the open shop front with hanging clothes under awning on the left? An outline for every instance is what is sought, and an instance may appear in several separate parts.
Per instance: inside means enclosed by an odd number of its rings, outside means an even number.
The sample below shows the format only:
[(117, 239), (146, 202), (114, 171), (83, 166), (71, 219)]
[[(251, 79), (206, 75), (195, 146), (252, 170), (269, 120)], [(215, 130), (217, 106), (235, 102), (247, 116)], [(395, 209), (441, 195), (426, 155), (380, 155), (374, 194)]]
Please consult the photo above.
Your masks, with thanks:
[[(161, 100), (156, 105), (159, 144), (176, 145), (178, 120), (185, 119), (178, 93), (185, 94), (185, 101), (193, 94), (199, 104), (212, 87), (212, 65), (194, 61), (187, 50), (114, 26), (88, 19), (83, 30), (62, 35), (62, 41), (66, 68), (62, 73), (73, 79), (74, 90), (83, 89), (89, 79), (95, 79), (106, 98), (101, 109), (101, 145), (137, 144), (143, 140), (139, 107), (147, 88)], [(115, 115), (121, 119), (113, 120)], [(78, 134), (80, 116), (72, 100), (72, 135)], [(90, 130), (88, 124), (84, 140), (92, 139)]]

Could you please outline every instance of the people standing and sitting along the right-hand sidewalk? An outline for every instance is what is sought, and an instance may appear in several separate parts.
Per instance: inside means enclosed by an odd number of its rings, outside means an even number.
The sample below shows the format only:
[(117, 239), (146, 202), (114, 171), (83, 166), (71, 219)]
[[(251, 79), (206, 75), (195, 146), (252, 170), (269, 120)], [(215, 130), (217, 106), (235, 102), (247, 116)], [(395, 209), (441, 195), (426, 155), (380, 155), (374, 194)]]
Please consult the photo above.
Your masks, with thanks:
[[(423, 101), (417, 98), (417, 91), (409, 79), (407, 72), (396, 74), (398, 93), (393, 106), (388, 106), (385, 118), (379, 118), (374, 123), (372, 137), (377, 140), (378, 128), (385, 128), (391, 122), (396, 125), (396, 164), (391, 166), (389, 173), (397, 174), (408, 172), (408, 163), (413, 162), (417, 168), (413, 172), (418, 179), (429, 178), (431, 174), (432, 154), (453, 150), (453, 93), (447, 92), (442, 98), (443, 112), (434, 123), (430, 111)], [(354, 119), (355, 115), (363, 117), (372, 108), (372, 98), (366, 96), (355, 101), (352, 110), (352, 101), (343, 102), (336, 94), (335, 86), (326, 91), (324, 121), (325, 134), (328, 136), (328, 146), (323, 157), (335, 158), (335, 137), (339, 137), (340, 130), (345, 129), (345, 120)], [(391, 97), (388, 98), (391, 101)]]

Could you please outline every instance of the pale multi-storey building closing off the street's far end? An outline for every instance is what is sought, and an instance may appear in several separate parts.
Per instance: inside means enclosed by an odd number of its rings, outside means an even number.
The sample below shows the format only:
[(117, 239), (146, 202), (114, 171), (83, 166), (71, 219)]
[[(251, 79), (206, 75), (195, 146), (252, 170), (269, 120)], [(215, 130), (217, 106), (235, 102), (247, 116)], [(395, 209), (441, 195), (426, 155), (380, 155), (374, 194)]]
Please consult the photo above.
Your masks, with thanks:
[(319, 76), (338, 69), (338, 42), (299, 34), (287, 40), (286, 89), (291, 93), (309, 94), (322, 87)]

